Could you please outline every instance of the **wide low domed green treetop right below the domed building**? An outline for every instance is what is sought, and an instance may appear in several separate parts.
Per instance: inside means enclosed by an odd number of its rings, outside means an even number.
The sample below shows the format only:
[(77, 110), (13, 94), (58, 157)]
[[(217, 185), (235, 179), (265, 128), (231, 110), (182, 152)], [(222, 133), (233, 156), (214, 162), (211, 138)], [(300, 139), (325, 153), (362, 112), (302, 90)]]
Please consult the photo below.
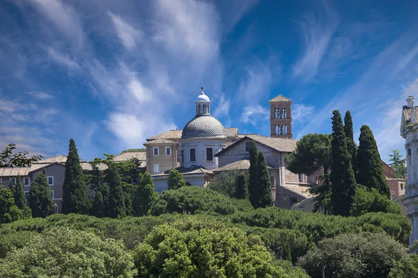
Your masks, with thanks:
[(235, 213), (231, 199), (221, 193), (201, 188), (200, 186), (184, 186), (176, 190), (163, 191), (151, 208), (152, 215), (162, 213), (203, 213), (220, 215)]

